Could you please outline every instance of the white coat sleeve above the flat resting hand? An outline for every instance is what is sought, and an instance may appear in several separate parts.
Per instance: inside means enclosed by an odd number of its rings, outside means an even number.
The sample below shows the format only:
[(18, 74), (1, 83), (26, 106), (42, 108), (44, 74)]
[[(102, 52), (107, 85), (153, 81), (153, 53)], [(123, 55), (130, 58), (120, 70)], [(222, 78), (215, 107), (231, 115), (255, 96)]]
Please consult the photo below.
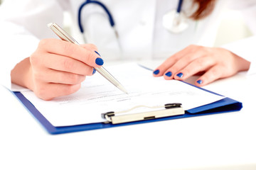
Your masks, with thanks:
[(230, 8), (239, 10), (244, 18), (247, 27), (250, 29), (252, 36), (235, 42), (231, 42), (223, 47), (236, 55), (251, 62), (247, 74), (256, 74), (256, 1), (255, 0), (232, 0)]

